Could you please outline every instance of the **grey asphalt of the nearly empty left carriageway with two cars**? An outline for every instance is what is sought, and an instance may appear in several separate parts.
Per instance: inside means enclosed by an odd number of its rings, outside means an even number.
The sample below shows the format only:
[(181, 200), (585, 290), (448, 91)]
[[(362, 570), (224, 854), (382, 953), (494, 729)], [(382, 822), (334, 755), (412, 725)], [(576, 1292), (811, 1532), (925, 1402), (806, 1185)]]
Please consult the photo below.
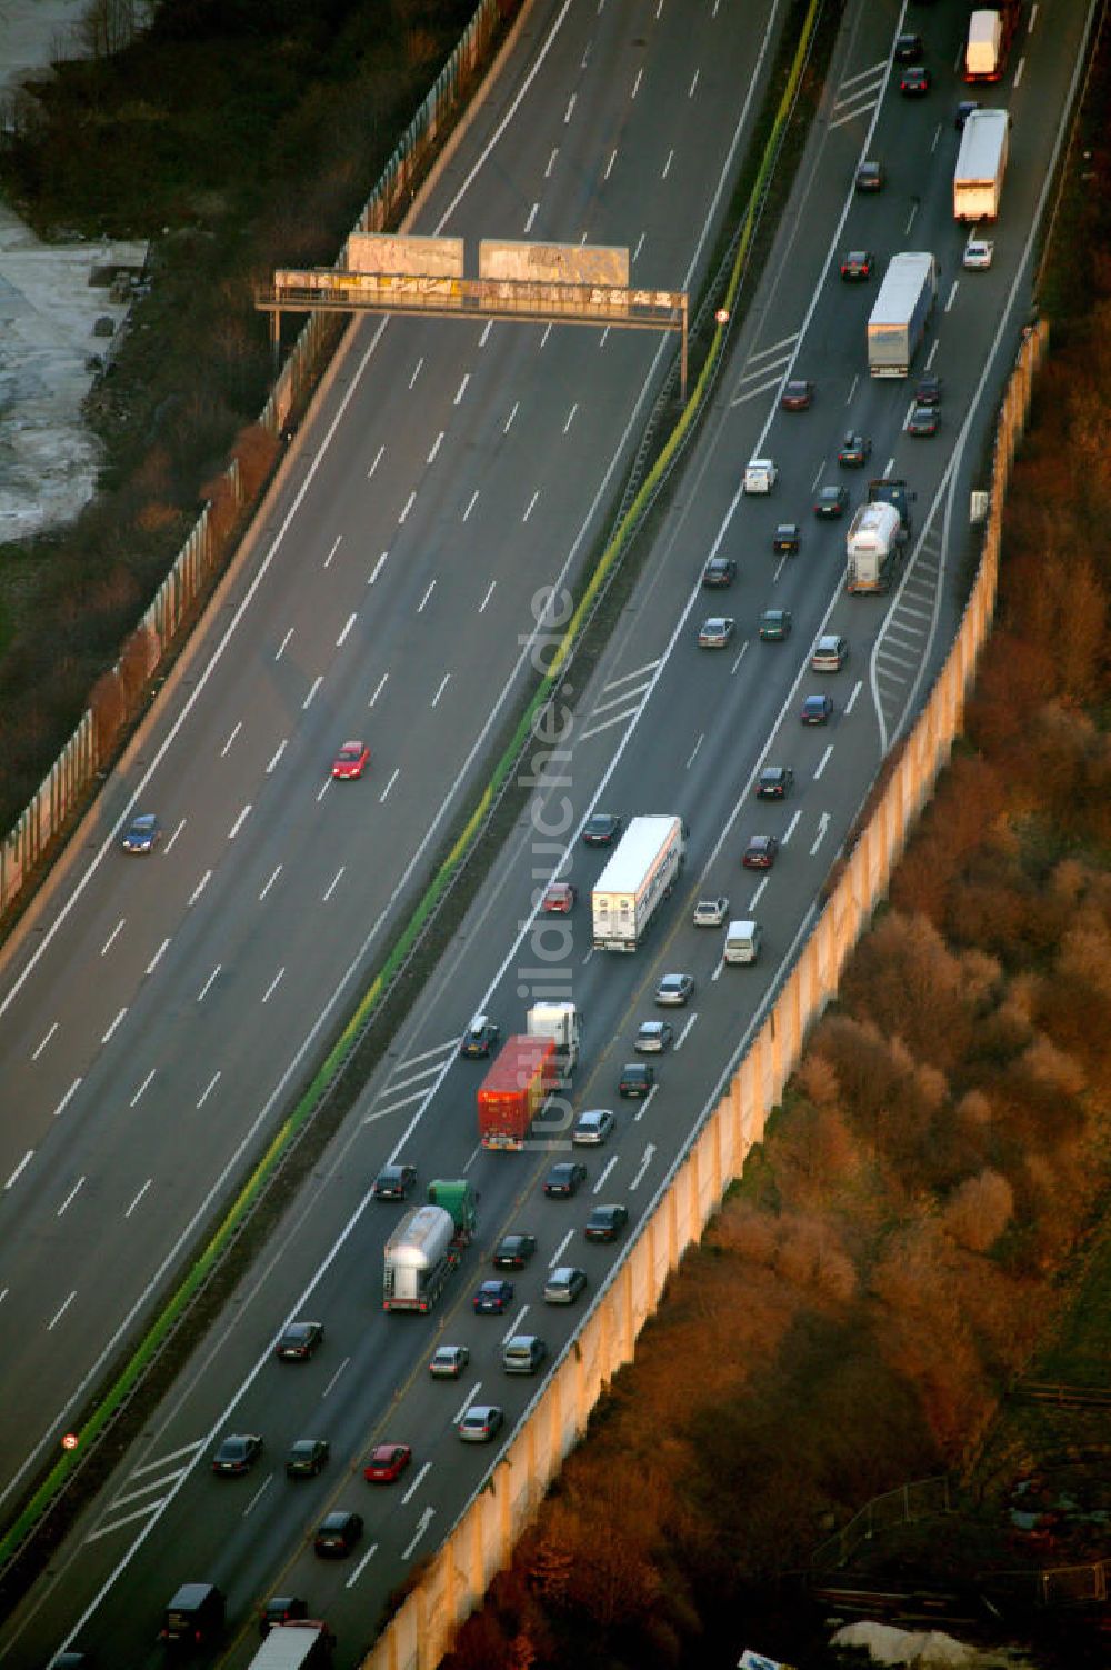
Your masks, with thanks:
[[(416, 230), (707, 259), (765, 13), (538, 5)], [(277, 1122), (515, 710), (670, 346), (369, 321), (0, 992), (0, 1500)], [(359, 783), (332, 783), (346, 738)], [(119, 850), (154, 810), (149, 858)]]

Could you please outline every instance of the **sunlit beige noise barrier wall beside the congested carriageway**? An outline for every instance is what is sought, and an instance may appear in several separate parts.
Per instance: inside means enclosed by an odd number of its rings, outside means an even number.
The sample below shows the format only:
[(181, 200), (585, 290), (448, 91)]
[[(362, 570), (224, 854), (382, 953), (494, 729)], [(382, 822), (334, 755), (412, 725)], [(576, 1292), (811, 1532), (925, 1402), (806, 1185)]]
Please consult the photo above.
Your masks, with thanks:
[(632, 1359), (637, 1334), (657, 1309), (668, 1276), (692, 1241), (702, 1236), (725, 1189), (740, 1176), (748, 1151), (762, 1139), (807, 1032), (837, 990), (840, 972), (887, 892), (907, 833), (961, 731), (996, 606), (1004, 491), (1046, 344), (1046, 326), (1022, 337), (996, 431), (991, 513), (961, 628), (872, 817), (844, 860), (825, 908), (728, 1089), (677, 1161), (581, 1333), (416, 1588), (363, 1660), (363, 1670), (431, 1670), (451, 1648), (459, 1623), (479, 1605), (491, 1578), (510, 1563), (516, 1538), (563, 1458), (585, 1433), (595, 1403)]

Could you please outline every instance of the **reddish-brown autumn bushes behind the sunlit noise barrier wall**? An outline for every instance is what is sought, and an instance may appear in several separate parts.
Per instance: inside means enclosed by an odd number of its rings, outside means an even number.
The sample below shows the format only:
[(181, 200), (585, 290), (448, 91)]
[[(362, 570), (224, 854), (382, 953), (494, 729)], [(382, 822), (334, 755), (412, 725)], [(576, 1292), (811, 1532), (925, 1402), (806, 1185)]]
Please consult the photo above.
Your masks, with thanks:
[[(1068, 1303), (1109, 1159), (1109, 90), (1103, 65), (966, 741), (763, 1147), (449, 1670), (832, 1662), (789, 1575), (872, 1495), (959, 1470)], [(1049, 1635), (1041, 1662), (1106, 1665), (1084, 1623)]]

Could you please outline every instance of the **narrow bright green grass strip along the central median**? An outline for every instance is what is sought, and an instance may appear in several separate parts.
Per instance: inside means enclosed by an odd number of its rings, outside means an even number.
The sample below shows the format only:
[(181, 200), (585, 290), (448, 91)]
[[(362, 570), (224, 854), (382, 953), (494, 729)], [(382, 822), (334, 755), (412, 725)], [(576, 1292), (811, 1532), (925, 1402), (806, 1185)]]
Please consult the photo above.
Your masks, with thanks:
[[(728, 279), (728, 286), (725, 289), (723, 306), (730, 314), (733, 311), (737, 291), (740, 287), (743, 262), (755, 229), (760, 199), (763, 195), (767, 182), (772, 175), (772, 169), (775, 165), (779, 139), (782, 129), (785, 127), (790, 117), (799, 82), (802, 78), (802, 72), (805, 68), (807, 55), (810, 50), (810, 37), (814, 33), (820, 8), (822, 8), (822, 0), (810, 0), (805, 23), (800, 32), (799, 45), (792, 62), (792, 68), (787, 78), (787, 85), (784, 89), (779, 110), (775, 114), (775, 122), (772, 124), (772, 132), (763, 147), (760, 169), (757, 172), (757, 179), (748, 199), (748, 207), (745, 210), (745, 220), (737, 245), (737, 256), (733, 259), (733, 269)], [(351, 1019), (346, 1022), (346, 1025), (339, 1032), (339, 1037), (327, 1050), (327, 1055), (321, 1062), (319, 1069), (314, 1072), (309, 1086), (299, 1097), (297, 1106), (289, 1114), (289, 1117), (282, 1121), (274, 1137), (267, 1144), (266, 1152), (252, 1167), (247, 1181), (237, 1191), (236, 1199), (227, 1207), (222, 1221), (219, 1222), (207, 1246), (195, 1259), (192, 1268), (187, 1271), (187, 1274), (182, 1278), (177, 1289), (170, 1294), (160, 1314), (150, 1323), (147, 1333), (135, 1348), (134, 1354), (129, 1358), (119, 1378), (85, 1421), (82, 1431), (77, 1435), (75, 1448), (63, 1451), (58, 1461), (55, 1461), (53, 1468), (47, 1473), (40, 1486), (30, 1496), (30, 1500), (27, 1501), (17, 1520), (5, 1530), (3, 1536), (0, 1538), (0, 1568), (7, 1566), (12, 1556), (20, 1550), (22, 1543), (27, 1540), (27, 1536), (35, 1528), (38, 1520), (43, 1516), (43, 1513), (50, 1508), (52, 1501), (55, 1501), (58, 1493), (63, 1490), (68, 1478), (82, 1465), (85, 1455), (92, 1448), (92, 1443), (99, 1436), (102, 1436), (102, 1433), (107, 1430), (115, 1413), (135, 1389), (145, 1369), (150, 1366), (150, 1363), (154, 1361), (160, 1348), (165, 1344), (177, 1323), (182, 1319), (192, 1301), (204, 1288), (205, 1281), (219, 1264), (229, 1242), (234, 1239), (236, 1232), (246, 1221), (247, 1212), (254, 1206), (257, 1196), (262, 1192), (266, 1184), (274, 1176), (281, 1159), (286, 1154), (289, 1142), (307, 1124), (316, 1107), (319, 1106), (321, 1099), (327, 1094), (327, 1091), (337, 1079), (359, 1035), (363, 1034), (364, 1027), (373, 1017), (374, 1009), (383, 1000), (384, 994), (388, 992), (398, 972), (404, 967), (421, 934), (433, 918), (439, 902), (448, 893), (451, 882), (454, 880), (459, 867), (463, 865), (471, 845), (478, 838), (488, 813), (493, 810), (498, 797), (501, 795), (501, 790), (505, 788), (513, 770), (516, 768), (516, 763), (521, 757), (521, 750), (525, 748), (525, 743), (530, 733), (533, 731), (536, 716), (548, 706), (551, 696), (558, 690), (571, 650), (575, 648), (580, 635), (583, 633), (590, 613), (595, 603), (598, 601), (618, 558), (623, 554), (625, 548), (633, 539), (640, 519), (653, 493), (657, 491), (662, 478), (667, 474), (667, 469), (670, 468), (675, 453), (683, 444), (690, 428), (702, 414), (707, 387), (710, 384), (713, 371), (717, 369), (717, 362), (725, 349), (727, 329), (728, 324), (718, 324), (715, 327), (695, 387), (687, 404), (683, 406), (683, 411), (675, 428), (672, 429), (663, 448), (660, 449), (660, 456), (648, 471), (633, 503), (627, 509), (625, 516), (621, 518), (615, 533), (611, 534), (606, 548), (603, 549), (595, 566), (595, 571), (586, 583), (583, 596), (576, 605), (566, 625), (565, 633), (560, 638), (560, 643), (551, 658), (548, 671), (541, 676), (535, 695), (526, 703), (521, 720), (516, 725), (510, 743), (506, 745), (500, 760), (496, 762), (490, 782), (486, 788), (481, 792), (474, 805), (474, 810), (466, 820), (458, 840), (451, 847), (451, 852), (439, 865), (439, 870), (429, 882), (423, 897), (418, 900), (413, 915), (409, 917), (409, 922), (406, 924), (396, 944), (386, 955), (383, 967), (378, 970), (369, 987), (356, 1004)]]

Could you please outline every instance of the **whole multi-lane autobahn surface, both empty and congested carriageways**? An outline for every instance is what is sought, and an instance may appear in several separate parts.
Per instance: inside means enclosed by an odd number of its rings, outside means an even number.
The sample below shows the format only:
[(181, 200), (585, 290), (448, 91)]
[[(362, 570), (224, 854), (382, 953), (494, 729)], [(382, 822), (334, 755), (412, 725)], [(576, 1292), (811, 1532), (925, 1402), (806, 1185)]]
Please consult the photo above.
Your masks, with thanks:
[[(505, 229), (506, 205), (516, 204), (521, 235), (585, 232), (635, 249), (640, 225), (638, 261), (655, 239), (662, 261), (688, 267), (720, 172), (707, 155), (728, 152), (737, 90), (758, 68), (752, 20), (742, 30), (705, 8), (692, 27), (688, 13), (680, 20), (662, 5), (633, 35), (605, 5), (543, 17), (510, 72), (498, 119), (476, 125), (473, 149), (443, 182), (431, 224), (456, 229), (464, 210), (481, 209)], [(984, 95), (1014, 115), (1012, 162), (996, 264), (967, 277), (949, 207), (964, 8), (922, 8), (921, 18), (934, 90), (911, 104), (887, 73), (895, 10), (849, 8), (769, 282), (643, 581), (566, 720), (570, 783), (538, 790), (271, 1254), (5, 1632), (3, 1662), (47, 1662), (77, 1632), (104, 1662), (154, 1663), (170, 1590), (209, 1578), (226, 1588), (236, 1623), (266, 1593), (304, 1593), (337, 1630), (339, 1662), (354, 1663), (386, 1597), (490, 1460), (458, 1443), (461, 1406), (481, 1396), (513, 1418), (530, 1399), (531, 1383), (500, 1371), (501, 1334), (525, 1326), (553, 1354), (563, 1348), (575, 1311), (543, 1306), (545, 1271), (571, 1261), (593, 1289), (605, 1281), (615, 1254), (583, 1242), (586, 1207), (623, 1201), (635, 1232), (758, 1017), (885, 743), (944, 653), (969, 458), (979, 456), (1026, 314), (1031, 229), (1086, 12), (1071, 8), (1053, 35), (1024, 32), (1007, 78)], [(735, 37), (725, 42), (718, 28)], [(713, 139), (702, 105), (712, 97), (722, 127)], [(869, 199), (850, 190), (865, 150), (887, 165), (885, 192)], [(677, 174), (683, 184), (673, 197)], [(461, 185), (468, 195), (451, 205)], [(864, 371), (870, 292), (837, 277), (842, 245), (860, 244), (880, 257), (929, 247), (942, 262), (942, 306), (922, 354), (922, 366), (944, 377), (934, 439), (904, 434), (906, 386), (872, 384)], [(219, 1187), (221, 1169), (277, 1104), (322, 999), (342, 997), (337, 970), (354, 965), (403, 895), (423, 838), (491, 725), (491, 701), (511, 696), (530, 598), (593, 528), (608, 463), (640, 416), (652, 357), (642, 342), (613, 336), (556, 344), (555, 332), (496, 331), (481, 342), (469, 327), (464, 341), (448, 327), (391, 326), (368, 331), (366, 349), (337, 379), (336, 404), (294, 468), (291, 499), (217, 623), (216, 645), (231, 631), (227, 648), (190, 665), (167, 703), (165, 731), (134, 767), (134, 780), (150, 772), (144, 803), (157, 803), (167, 830), (160, 853), (119, 857), (112, 817), (127, 797), (109, 797), (104, 852), (72, 870), (38, 944), (8, 969), (0, 1029), (5, 1086), (18, 1087), (18, 1101), (7, 1089), (5, 1101), (20, 1114), (5, 1124), (13, 1181), (3, 1201), (3, 1306), (12, 1306), (18, 1373), (0, 1391), (12, 1399), (0, 1420), (27, 1443), (10, 1460), (5, 1445), (5, 1481), (57, 1430), (79, 1378), (92, 1373), (152, 1271)], [(792, 367), (815, 381), (815, 402), (779, 414), (777, 389)], [(844, 526), (810, 511), (815, 488), (839, 479), (835, 453), (849, 426), (869, 434), (880, 468), (917, 491), (904, 581), (882, 601), (842, 595)], [(755, 449), (780, 464), (767, 503), (738, 494), (740, 464)], [(855, 501), (857, 481), (840, 479)], [(770, 534), (784, 516), (799, 519), (804, 543), (779, 559)], [(698, 576), (713, 551), (735, 556), (740, 574), (710, 600)], [(792, 611), (785, 643), (755, 638), (755, 618), (772, 605)], [(712, 611), (733, 615), (738, 630), (730, 648), (705, 653), (695, 631)], [(819, 630), (850, 640), (849, 665), (834, 676), (807, 671)], [(829, 690), (835, 711), (829, 726), (804, 730), (797, 710), (812, 688)], [(331, 752), (363, 733), (371, 775), (329, 787)], [(794, 795), (782, 805), (752, 798), (753, 772), (767, 760), (794, 767)], [(548, 873), (548, 848), (568, 840), (561, 873), (580, 897), (588, 892), (601, 860), (573, 837), (598, 797), (627, 817), (682, 812), (690, 880), (637, 957), (590, 954), (580, 905), (571, 949), (551, 962), (530, 920), (535, 872)], [(738, 865), (755, 830), (782, 843), (763, 878)], [(762, 965), (720, 970), (720, 935), (690, 925), (688, 907), (703, 890), (760, 917)], [(667, 967), (695, 975), (695, 997), (678, 1015), (657, 1094), (618, 1107), (616, 1075)], [(540, 1194), (546, 1151), (478, 1149), (481, 1070), (456, 1060), (476, 1007), (511, 1030), (540, 987), (566, 990), (586, 1019), (576, 1106), (618, 1111), (615, 1137), (588, 1159), (586, 1187), (570, 1202)], [(431, 1323), (378, 1308), (396, 1209), (369, 1202), (368, 1184), (394, 1152), (423, 1177), (466, 1174), (481, 1191), (478, 1251)], [(488, 1273), (483, 1254), (508, 1227), (536, 1234), (536, 1261), (518, 1278), (505, 1323), (473, 1318), (469, 1294)], [(277, 1364), (269, 1348), (294, 1311), (326, 1321), (326, 1346), (309, 1364)], [(471, 1373), (458, 1388), (424, 1373), (436, 1339), (471, 1346)], [(224, 1431), (264, 1435), (266, 1453), (246, 1480), (209, 1476), (209, 1450)], [(331, 1461), (317, 1481), (289, 1485), (284, 1450), (299, 1436), (326, 1436)], [(361, 1480), (361, 1461), (381, 1438), (414, 1446), (398, 1486)], [(358, 1508), (366, 1533), (349, 1560), (324, 1565), (306, 1536), (332, 1505)], [(246, 1657), (244, 1643), (236, 1662)]]

